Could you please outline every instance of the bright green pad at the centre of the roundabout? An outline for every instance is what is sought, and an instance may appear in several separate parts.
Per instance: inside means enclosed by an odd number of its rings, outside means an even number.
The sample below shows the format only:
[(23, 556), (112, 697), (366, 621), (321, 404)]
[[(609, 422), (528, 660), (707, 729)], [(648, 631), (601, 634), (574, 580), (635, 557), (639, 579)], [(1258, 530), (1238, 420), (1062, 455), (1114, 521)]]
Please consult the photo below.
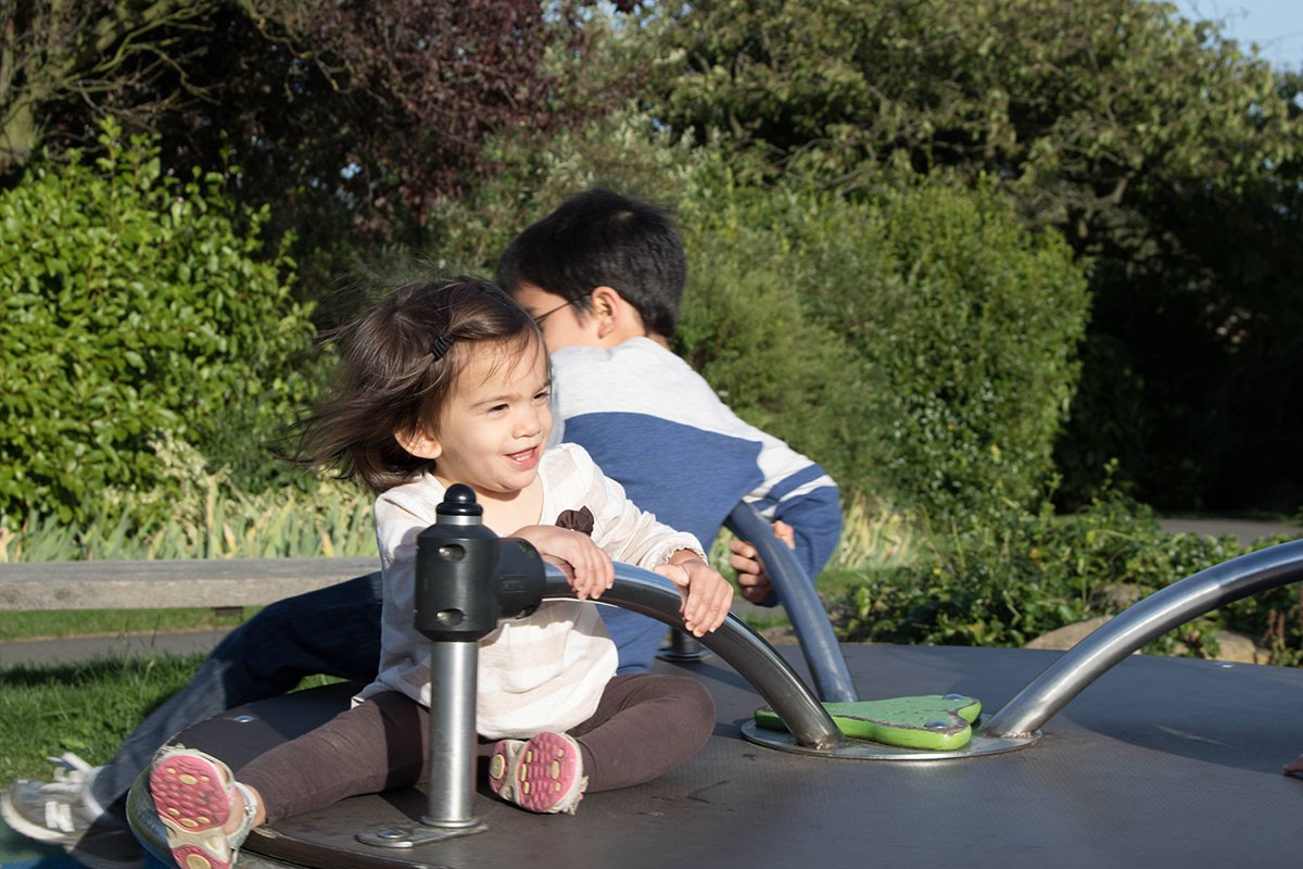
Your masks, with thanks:
[[(963, 694), (926, 694), (826, 702), (823, 709), (850, 739), (945, 752), (963, 748), (972, 739), (972, 723), (981, 714), (981, 702)], [(756, 724), (787, 730), (778, 713), (767, 706), (756, 710)]]

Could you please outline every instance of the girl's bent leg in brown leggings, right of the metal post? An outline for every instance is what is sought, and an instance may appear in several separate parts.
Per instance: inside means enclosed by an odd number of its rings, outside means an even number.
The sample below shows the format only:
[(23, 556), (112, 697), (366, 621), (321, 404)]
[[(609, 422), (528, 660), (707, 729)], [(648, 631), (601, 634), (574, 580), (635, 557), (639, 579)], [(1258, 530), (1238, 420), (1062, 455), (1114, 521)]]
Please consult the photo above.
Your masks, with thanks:
[(569, 731), (584, 752), (588, 792), (644, 784), (691, 760), (710, 739), (715, 705), (687, 676), (615, 676), (597, 711)]

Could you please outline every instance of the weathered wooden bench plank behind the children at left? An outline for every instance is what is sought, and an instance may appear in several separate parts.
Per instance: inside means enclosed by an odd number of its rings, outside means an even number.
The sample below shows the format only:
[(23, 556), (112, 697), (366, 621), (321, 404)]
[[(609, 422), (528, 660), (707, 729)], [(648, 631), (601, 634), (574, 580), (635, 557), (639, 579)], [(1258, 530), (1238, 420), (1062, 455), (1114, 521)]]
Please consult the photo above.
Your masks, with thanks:
[(379, 569), (375, 556), (0, 564), (0, 610), (262, 606)]

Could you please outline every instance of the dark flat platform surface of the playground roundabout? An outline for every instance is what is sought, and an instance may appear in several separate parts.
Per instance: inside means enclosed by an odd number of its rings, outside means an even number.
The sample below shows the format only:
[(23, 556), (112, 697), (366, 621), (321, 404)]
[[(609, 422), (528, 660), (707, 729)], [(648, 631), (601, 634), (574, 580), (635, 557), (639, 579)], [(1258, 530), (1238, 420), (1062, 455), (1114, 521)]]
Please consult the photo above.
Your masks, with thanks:
[[(846, 646), (863, 700), (962, 693), (998, 710), (1061, 653)], [(779, 651), (805, 675), (800, 651)], [(666, 664), (714, 694), (715, 734), (688, 765), (534, 816), (490, 797), (485, 833), (388, 851), (353, 835), (408, 823), (418, 791), (364, 796), (250, 836), (240, 865), (731, 868), (1303, 865), (1303, 671), (1132, 655), (1035, 744), (937, 761), (823, 758), (745, 741), (758, 694), (719, 658)], [(344, 687), (253, 704), (181, 735), (238, 765), (344, 707)], [(241, 718), (246, 718), (241, 723)], [(979, 722), (980, 727), (981, 722)], [(149, 836), (146, 836), (149, 838)]]

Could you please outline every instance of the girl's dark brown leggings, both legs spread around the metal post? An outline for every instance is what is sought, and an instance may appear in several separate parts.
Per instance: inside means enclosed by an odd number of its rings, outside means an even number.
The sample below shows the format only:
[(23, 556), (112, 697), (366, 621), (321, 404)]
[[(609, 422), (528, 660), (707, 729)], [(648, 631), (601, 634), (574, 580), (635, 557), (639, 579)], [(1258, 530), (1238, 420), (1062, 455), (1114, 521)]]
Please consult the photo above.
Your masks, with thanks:
[[(692, 758), (710, 739), (715, 706), (687, 676), (615, 676), (593, 715), (569, 731), (588, 792), (642, 784)], [(375, 694), (236, 771), (262, 795), (267, 821), (358, 793), (417, 784), (430, 763), (430, 713), (397, 692)], [(481, 757), (494, 743), (482, 741)]]

